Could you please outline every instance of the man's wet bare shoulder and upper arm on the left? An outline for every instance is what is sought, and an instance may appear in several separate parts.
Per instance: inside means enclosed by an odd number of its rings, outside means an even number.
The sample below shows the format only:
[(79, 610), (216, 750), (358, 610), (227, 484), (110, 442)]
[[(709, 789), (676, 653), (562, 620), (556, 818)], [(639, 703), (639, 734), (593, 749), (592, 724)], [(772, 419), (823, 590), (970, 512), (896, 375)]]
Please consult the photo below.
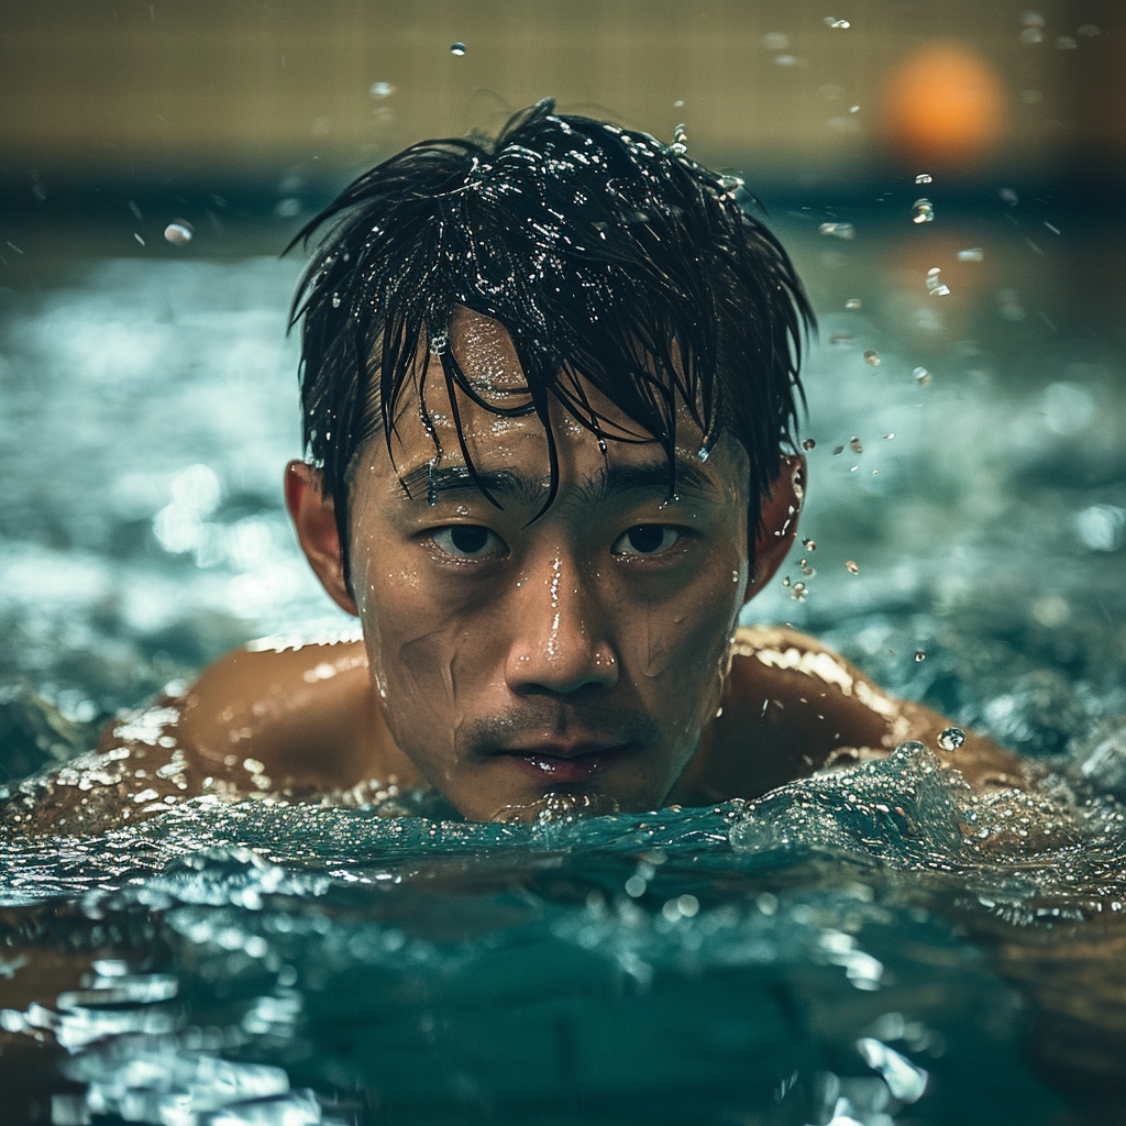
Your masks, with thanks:
[(6, 814), (34, 833), (98, 832), (200, 795), (315, 797), (393, 775), (384, 735), (361, 642), (268, 638), (118, 716), (95, 751), (17, 786)]

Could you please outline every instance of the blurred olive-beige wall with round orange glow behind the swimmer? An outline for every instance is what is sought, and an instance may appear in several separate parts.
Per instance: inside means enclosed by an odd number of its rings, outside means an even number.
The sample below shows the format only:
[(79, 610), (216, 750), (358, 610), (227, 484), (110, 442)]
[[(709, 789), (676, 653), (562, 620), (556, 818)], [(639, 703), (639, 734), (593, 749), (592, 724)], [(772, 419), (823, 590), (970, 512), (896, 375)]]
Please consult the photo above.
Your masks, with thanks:
[(767, 177), (1112, 180), (1124, 33), (1121, 0), (3, 0), (0, 175), (331, 177), (551, 95)]

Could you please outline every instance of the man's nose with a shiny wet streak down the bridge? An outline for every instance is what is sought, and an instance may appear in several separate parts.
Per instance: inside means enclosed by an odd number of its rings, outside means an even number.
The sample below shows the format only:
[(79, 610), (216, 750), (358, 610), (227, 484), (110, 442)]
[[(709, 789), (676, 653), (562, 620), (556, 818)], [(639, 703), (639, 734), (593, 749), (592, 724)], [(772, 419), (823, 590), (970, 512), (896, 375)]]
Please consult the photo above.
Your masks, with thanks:
[(504, 677), (512, 691), (565, 696), (617, 683), (618, 659), (590, 582), (560, 555), (526, 574), (508, 610)]

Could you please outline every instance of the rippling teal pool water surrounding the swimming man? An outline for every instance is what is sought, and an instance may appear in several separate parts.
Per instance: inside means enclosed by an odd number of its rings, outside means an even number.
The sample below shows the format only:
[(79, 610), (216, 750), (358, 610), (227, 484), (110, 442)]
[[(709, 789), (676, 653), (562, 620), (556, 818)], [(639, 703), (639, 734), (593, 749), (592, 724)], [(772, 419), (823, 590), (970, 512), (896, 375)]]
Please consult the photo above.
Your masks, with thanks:
[[(1037, 288), (1070, 259), (1045, 265), (976, 214), (919, 253), (932, 232), (904, 214), (850, 216), (841, 240), (779, 211), (822, 321), (815, 547), (750, 619), (808, 629), (1034, 757), (1044, 795), (974, 798), (908, 747), (756, 803), (649, 815), (197, 803), (99, 837), (8, 833), (11, 1120), (1120, 1112), (1118, 341), (1074, 294)], [(957, 257), (974, 248), (983, 261)], [(347, 624), (280, 504), (298, 265), (176, 253), (56, 262), (0, 292), (10, 786), (234, 644)], [(927, 289), (935, 265), (948, 295)]]

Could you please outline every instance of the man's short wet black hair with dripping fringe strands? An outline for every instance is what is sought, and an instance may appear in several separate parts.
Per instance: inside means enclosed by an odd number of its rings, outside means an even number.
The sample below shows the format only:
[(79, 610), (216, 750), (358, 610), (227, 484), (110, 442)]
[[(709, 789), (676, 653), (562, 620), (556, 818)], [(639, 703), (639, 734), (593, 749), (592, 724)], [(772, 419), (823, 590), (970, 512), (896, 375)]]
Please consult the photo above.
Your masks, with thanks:
[[(555, 400), (600, 441), (654, 440), (676, 488), (677, 410), (750, 457), (750, 526), (793, 447), (802, 345), (813, 313), (785, 250), (748, 214), (742, 180), (688, 159), (678, 140), (556, 114), (545, 99), (494, 140), (423, 141), (354, 180), (298, 232), (323, 232), (294, 297), (302, 325), (306, 456), (322, 471), (347, 573), (349, 470), (376, 434), (391, 448), (396, 405), (440, 365), (443, 411), (467, 471), (458, 392), (544, 426), (551, 485)], [(527, 382), (518, 405), (481, 396), (448, 346), (458, 306), (499, 321)], [(422, 370), (415, 357), (426, 346)], [(597, 388), (636, 429), (590, 402)], [(482, 490), (488, 497), (486, 490)], [(490, 500), (492, 498), (490, 497)]]

